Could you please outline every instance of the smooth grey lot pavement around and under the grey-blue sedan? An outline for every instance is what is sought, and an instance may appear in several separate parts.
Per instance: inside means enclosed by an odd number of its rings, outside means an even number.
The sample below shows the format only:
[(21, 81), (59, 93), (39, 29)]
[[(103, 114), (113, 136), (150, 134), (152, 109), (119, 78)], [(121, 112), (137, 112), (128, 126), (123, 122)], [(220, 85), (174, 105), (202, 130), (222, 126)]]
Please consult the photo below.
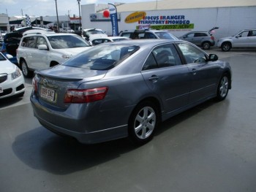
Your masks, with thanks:
[(256, 50), (229, 61), (233, 88), (162, 123), (154, 139), (82, 145), (43, 128), (29, 101), (0, 101), (0, 191), (256, 191)]

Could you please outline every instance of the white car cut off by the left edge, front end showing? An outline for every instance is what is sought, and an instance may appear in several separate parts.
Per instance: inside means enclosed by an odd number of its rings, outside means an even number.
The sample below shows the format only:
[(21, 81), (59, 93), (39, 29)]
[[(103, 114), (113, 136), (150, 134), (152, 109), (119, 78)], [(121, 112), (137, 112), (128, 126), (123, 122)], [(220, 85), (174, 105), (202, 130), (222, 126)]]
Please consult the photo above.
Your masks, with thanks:
[[(11, 58), (12, 55), (7, 55)], [(25, 81), (22, 72), (15, 64), (0, 53), (0, 99), (10, 96), (23, 96)]]

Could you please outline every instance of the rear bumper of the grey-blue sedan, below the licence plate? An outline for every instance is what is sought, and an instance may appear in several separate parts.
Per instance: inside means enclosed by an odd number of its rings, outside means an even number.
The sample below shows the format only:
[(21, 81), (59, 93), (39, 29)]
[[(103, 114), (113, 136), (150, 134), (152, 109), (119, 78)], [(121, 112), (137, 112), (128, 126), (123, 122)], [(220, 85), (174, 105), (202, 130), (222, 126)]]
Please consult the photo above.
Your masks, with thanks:
[[(48, 130), (60, 134), (73, 137), (78, 142), (84, 144), (93, 144), (105, 142), (113, 139), (119, 139), (128, 136), (128, 125), (121, 126), (97, 126), (97, 121), (104, 121), (101, 118), (94, 120), (79, 119), (76, 117), (65, 117), (64, 115), (50, 111), (48, 108), (39, 104), (39, 101), (31, 96), (31, 105), (34, 110), (34, 116), (39, 123), (48, 128)], [(113, 121), (115, 118), (113, 118)], [(95, 123), (91, 123), (94, 121)], [(104, 122), (102, 122), (104, 124)], [(93, 128), (91, 128), (93, 126)]]

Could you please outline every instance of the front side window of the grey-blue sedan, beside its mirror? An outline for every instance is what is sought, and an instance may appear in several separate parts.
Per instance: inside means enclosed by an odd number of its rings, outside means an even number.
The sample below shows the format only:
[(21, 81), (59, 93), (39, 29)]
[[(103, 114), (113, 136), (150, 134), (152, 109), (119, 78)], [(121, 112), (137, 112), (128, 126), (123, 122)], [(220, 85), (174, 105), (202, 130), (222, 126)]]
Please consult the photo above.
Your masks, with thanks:
[(187, 64), (206, 62), (206, 55), (196, 47), (184, 43), (178, 44), (178, 47), (181, 49)]

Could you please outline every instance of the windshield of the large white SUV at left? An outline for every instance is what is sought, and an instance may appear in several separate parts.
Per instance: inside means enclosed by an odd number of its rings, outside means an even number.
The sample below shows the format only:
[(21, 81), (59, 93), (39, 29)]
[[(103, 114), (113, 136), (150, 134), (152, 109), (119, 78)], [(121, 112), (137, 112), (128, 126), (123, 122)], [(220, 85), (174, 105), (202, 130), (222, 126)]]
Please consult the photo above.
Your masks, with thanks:
[(48, 37), (51, 47), (53, 49), (67, 49), (73, 47), (89, 47), (89, 43), (79, 36), (59, 35)]

